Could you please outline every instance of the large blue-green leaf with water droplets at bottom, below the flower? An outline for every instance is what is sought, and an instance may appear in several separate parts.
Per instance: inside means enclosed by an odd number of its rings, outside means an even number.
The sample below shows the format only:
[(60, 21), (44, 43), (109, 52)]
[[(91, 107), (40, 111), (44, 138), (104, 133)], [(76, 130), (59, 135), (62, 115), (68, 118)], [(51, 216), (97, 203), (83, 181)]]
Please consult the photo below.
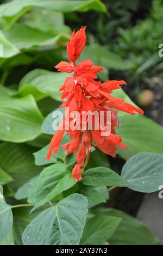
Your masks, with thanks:
[(24, 245), (78, 245), (87, 216), (87, 199), (72, 194), (41, 212), (22, 235)]

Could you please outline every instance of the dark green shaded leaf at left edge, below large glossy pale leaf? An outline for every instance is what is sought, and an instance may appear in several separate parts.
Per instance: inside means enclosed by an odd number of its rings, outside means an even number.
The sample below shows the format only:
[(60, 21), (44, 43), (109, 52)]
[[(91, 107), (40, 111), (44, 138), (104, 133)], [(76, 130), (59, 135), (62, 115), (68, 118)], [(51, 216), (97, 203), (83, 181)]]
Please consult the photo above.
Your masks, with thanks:
[(1, 143), (0, 166), (14, 179), (8, 185), (12, 189), (17, 190), (40, 173), (41, 168), (34, 164), (34, 150), (26, 144)]

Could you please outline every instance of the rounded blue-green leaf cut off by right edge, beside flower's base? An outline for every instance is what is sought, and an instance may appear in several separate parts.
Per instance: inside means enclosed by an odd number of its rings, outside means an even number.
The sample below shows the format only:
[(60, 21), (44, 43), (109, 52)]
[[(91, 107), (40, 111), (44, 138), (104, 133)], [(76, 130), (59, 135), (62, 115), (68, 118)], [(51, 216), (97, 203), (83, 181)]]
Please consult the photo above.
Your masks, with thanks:
[(132, 190), (151, 193), (159, 190), (163, 180), (163, 155), (139, 153), (122, 168), (122, 176)]

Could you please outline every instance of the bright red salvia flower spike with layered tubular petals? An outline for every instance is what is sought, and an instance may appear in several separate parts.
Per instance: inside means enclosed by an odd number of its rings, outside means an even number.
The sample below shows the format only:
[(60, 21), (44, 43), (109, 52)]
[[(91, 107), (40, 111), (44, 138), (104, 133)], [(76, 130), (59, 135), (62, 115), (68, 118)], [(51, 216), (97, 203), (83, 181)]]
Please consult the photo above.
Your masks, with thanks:
[[(72, 126), (70, 126), (68, 130), (65, 129), (67, 135), (71, 137), (71, 142), (62, 145), (62, 148), (65, 150), (66, 155), (71, 153), (77, 154), (77, 164), (72, 170), (72, 178), (76, 181), (82, 179), (82, 170), (84, 170), (89, 159), (92, 146), (113, 157), (116, 156), (117, 145), (123, 149), (126, 148), (122, 143), (121, 136), (116, 136), (115, 132), (115, 127), (119, 124), (117, 111), (130, 114), (135, 114), (135, 112), (143, 114), (142, 109), (111, 95), (113, 90), (120, 89), (122, 84), (126, 84), (125, 81), (109, 80), (104, 83), (97, 81), (96, 73), (103, 70), (103, 68), (93, 65), (90, 59), (84, 60), (76, 65), (75, 62), (80, 57), (85, 44), (85, 27), (82, 27), (76, 33), (73, 32), (70, 42), (67, 43), (67, 55), (70, 63), (60, 62), (55, 66), (60, 72), (73, 72), (72, 76), (67, 77), (60, 88), (60, 91), (62, 91), (61, 99), (66, 99), (62, 102), (61, 106), (69, 107), (70, 116), (72, 111), (78, 111), (80, 118), (83, 117), (83, 111), (89, 111), (90, 113), (96, 111), (98, 114), (103, 111), (104, 117), (106, 117), (106, 113), (110, 111), (111, 130), (109, 133), (104, 133), (106, 132), (106, 120), (104, 124), (100, 125), (99, 129), (96, 130), (95, 126), (99, 125), (99, 122), (95, 117), (92, 118), (91, 127), (88, 124), (89, 118), (86, 118), (85, 121), (83, 121), (85, 129), (81, 124), (78, 126), (79, 130), (73, 130)], [(72, 121), (73, 119), (72, 117), (70, 118), (70, 116), (68, 116), (68, 118)], [(65, 114), (64, 120), (66, 120), (66, 118), (67, 114)], [(74, 123), (77, 124), (77, 121)], [(63, 135), (64, 131), (58, 130), (55, 132), (49, 145), (47, 154), (48, 160), (51, 158), (52, 153), (55, 154), (58, 151)]]

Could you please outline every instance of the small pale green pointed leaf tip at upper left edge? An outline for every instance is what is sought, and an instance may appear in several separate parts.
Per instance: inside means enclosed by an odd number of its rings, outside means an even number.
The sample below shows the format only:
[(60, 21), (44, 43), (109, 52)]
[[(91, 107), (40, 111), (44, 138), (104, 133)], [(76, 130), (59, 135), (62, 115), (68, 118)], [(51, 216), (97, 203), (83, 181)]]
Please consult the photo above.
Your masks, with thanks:
[(10, 41), (5, 38), (3, 33), (0, 31), (0, 42), (3, 45), (3, 58), (9, 58), (19, 52), (19, 50), (11, 44)]

